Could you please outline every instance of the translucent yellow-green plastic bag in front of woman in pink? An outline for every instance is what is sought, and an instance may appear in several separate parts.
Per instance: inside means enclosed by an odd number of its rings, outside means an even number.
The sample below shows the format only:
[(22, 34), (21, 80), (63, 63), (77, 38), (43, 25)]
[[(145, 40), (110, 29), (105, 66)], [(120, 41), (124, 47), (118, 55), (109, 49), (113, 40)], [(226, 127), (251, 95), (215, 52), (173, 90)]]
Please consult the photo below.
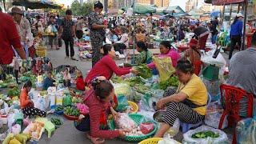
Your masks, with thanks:
[(170, 78), (170, 75), (175, 73), (174, 66), (172, 65), (171, 59), (169, 57), (153, 57), (153, 62), (158, 69), (160, 82), (166, 81), (168, 78)]

